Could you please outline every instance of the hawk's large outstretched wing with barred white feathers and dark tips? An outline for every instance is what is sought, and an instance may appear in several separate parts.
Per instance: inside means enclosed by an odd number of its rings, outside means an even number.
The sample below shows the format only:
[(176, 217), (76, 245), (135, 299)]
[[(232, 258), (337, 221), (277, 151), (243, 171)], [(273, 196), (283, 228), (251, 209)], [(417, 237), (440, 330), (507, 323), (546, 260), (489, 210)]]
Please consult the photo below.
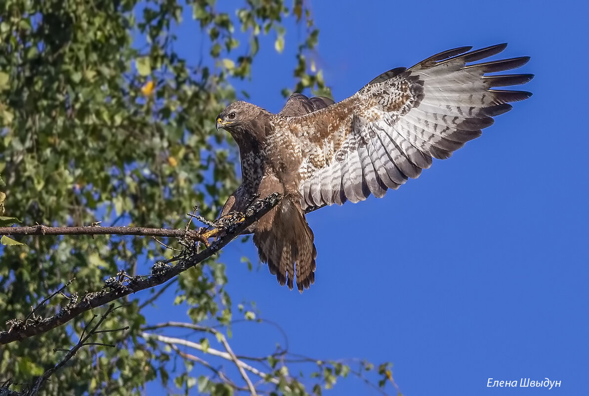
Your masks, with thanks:
[(346, 100), (291, 118), (303, 151), (304, 209), (382, 197), (418, 177), (432, 157), (446, 159), (480, 136), (492, 117), (511, 109), (509, 102), (530, 97), (494, 87), (524, 84), (531, 74), (485, 75), (520, 67), (529, 57), (468, 64), (506, 46), (440, 52), (379, 75)]

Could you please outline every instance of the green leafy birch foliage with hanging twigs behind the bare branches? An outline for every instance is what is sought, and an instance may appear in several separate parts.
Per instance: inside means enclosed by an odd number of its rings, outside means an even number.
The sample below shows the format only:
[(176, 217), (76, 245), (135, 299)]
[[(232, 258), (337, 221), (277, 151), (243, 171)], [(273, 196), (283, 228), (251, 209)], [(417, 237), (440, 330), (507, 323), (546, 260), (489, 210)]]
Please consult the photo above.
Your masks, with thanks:
[[(284, 93), (325, 92), (321, 74), (308, 64), (318, 30), (302, 0), (248, 0), (227, 10), (214, 0), (3, 1), (0, 211), (24, 225), (177, 229), (198, 204), (201, 215), (213, 218), (237, 186), (237, 151), (214, 128), (215, 116), (235, 100), (235, 82), (250, 77), (260, 45), (283, 50), (284, 22), (290, 19), (305, 34), (293, 60), (296, 83)], [(198, 37), (198, 62), (187, 61), (174, 45), (178, 25), (187, 23)], [(29, 318), (31, 307), (37, 307), (35, 317), (51, 316), (100, 290), (121, 269), (138, 275), (145, 260), (173, 255), (142, 236), (15, 239), (24, 246), (6, 246), (0, 256), (2, 324)], [(181, 248), (173, 239), (168, 243)], [(337, 377), (352, 372), (363, 380), (365, 371), (375, 371), (380, 385), (392, 381), (388, 364), (306, 358), (312, 375), (302, 378), (289, 372), (290, 351), (238, 358), (229, 346), (231, 322), (256, 318), (231, 302), (226, 282), (224, 265), (213, 256), (150, 293), (127, 296), (116, 308), (96, 308), (2, 345), (0, 387), (31, 391), (34, 379), (55, 368), (97, 324), (93, 344), (51, 372), (41, 394), (140, 394), (152, 380), (185, 394), (197, 388), (230, 395), (252, 386), (263, 393), (321, 394)], [(145, 307), (170, 286), (176, 303), (186, 306), (186, 323), (150, 322)], [(188, 345), (163, 334), (167, 328), (202, 336)], [(210, 359), (233, 362), (233, 369), (220, 371)]]

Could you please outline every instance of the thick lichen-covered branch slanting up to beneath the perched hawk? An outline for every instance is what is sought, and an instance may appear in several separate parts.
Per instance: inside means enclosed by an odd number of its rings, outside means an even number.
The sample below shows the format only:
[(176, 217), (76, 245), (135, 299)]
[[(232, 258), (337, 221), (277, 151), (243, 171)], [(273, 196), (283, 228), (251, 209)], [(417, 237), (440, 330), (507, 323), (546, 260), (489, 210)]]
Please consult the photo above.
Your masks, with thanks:
[[(266, 213), (280, 202), (280, 199), (282, 199), (282, 196), (274, 193), (264, 199), (257, 200), (244, 213), (245, 219), (243, 222), (227, 227), (224, 236), (216, 242), (211, 243), (207, 249), (197, 252), (196, 245), (191, 243), (175, 258), (166, 262), (160, 261), (155, 263), (151, 269), (151, 275), (131, 277), (125, 276), (126, 274), (124, 272), (120, 272), (118, 279), (107, 279), (101, 291), (87, 293), (80, 302), (75, 305), (72, 304), (63, 307), (61, 311), (49, 318), (36, 317), (35, 321), (32, 322), (9, 321), (11, 327), (8, 331), (0, 332), (0, 345), (42, 334), (71, 321), (71, 319), (82, 314), (82, 312), (115, 301), (131, 293), (153, 288), (169, 281), (179, 273), (186, 271), (219, 252), (227, 243), (244, 232), (247, 227), (259, 220), (260, 217), (266, 215)], [(97, 228), (100, 229), (100, 227)], [(169, 266), (168, 263), (173, 261), (178, 261), (178, 263), (174, 266)]]

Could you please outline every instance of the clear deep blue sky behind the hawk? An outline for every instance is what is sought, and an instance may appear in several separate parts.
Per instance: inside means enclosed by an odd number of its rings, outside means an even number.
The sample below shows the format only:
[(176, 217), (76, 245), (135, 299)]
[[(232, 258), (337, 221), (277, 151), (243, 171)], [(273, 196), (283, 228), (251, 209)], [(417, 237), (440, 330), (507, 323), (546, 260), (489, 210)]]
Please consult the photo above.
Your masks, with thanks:
[[(383, 199), (310, 214), (316, 282), (302, 295), (265, 265), (247, 270), (240, 258), (257, 257), (253, 244), (232, 243), (221, 260), (233, 301), (256, 301), (292, 352), (392, 361), (405, 395), (588, 394), (587, 4), (348, 0), (312, 9), (336, 100), (390, 68), (499, 42), (509, 42), (503, 57), (531, 55), (518, 71), (536, 75), (526, 87), (534, 96)], [(280, 110), (296, 35), (287, 31), (284, 54), (262, 49), (244, 85), (251, 102)], [(160, 304), (155, 320), (185, 320), (169, 308)], [(272, 328), (235, 332), (238, 354), (282, 341)], [(487, 388), (491, 377), (561, 387), (505, 391)], [(329, 394), (375, 393), (350, 384)]]

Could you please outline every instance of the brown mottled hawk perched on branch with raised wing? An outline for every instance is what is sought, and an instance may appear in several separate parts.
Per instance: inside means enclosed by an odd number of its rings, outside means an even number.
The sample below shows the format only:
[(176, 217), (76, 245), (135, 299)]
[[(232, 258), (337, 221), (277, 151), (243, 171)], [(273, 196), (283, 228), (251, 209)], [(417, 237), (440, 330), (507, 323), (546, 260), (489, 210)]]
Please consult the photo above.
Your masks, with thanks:
[(471, 51), (440, 52), (413, 67), (398, 67), (333, 103), (293, 94), (272, 114), (238, 101), (217, 117), (239, 146), (243, 183), (229, 197), (221, 217), (244, 212), (270, 193), (280, 203), (247, 230), (260, 259), (280, 285), (299, 291), (315, 281), (317, 250), (306, 213), (334, 203), (385, 195), (415, 179), (432, 158), (446, 159), (466, 141), (481, 136), (510, 102), (531, 93), (497, 90), (524, 84), (532, 74), (499, 74), (530, 57), (481, 61), (507, 44)]

